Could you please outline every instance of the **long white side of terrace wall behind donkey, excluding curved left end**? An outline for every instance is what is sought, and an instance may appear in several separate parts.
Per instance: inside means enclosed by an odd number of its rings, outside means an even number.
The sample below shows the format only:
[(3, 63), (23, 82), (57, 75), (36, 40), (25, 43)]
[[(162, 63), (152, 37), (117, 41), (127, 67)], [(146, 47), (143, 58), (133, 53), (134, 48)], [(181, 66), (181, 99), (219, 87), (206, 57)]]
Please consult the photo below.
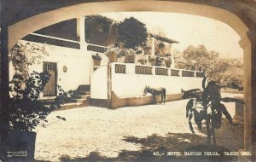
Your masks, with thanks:
[[(112, 90), (119, 98), (143, 96), (146, 85), (166, 88), (166, 95), (180, 94), (181, 89), (201, 88), (202, 78), (136, 74), (134, 64), (126, 64), (126, 73), (115, 73), (112, 68)], [(153, 69), (154, 73), (154, 69)]]

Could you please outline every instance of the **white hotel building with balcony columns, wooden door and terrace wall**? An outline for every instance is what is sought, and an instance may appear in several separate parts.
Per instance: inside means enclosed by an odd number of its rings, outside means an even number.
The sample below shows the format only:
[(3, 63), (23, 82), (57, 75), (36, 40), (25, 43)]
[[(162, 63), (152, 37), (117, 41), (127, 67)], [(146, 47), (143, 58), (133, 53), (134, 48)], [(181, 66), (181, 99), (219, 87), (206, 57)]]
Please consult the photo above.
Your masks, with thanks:
[[(146, 85), (152, 88), (165, 87), (166, 101), (181, 99), (181, 90), (201, 88), (203, 72), (176, 69), (174, 67), (172, 43), (169, 38), (148, 34), (151, 55), (155, 54), (156, 40), (166, 43), (166, 50), (172, 55), (172, 67), (155, 67), (135, 64), (108, 62), (103, 53), (106, 46), (85, 42), (84, 17), (76, 20), (76, 38), (57, 38), (49, 35), (31, 33), (20, 40), (20, 43), (32, 43), (44, 46), (48, 55), (29, 71), (44, 72), (51, 76), (44, 88), (42, 99), (57, 95), (57, 85), (65, 91), (76, 90), (72, 107), (87, 104), (100, 107), (138, 106), (152, 103), (150, 95), (143, 96)], [(100, 67), (93, 67), (91, 55), (102, 55)], [(10, 60), (10, 79), (15, 73)], [(159, 100), (159, 99), (158, 99)]]

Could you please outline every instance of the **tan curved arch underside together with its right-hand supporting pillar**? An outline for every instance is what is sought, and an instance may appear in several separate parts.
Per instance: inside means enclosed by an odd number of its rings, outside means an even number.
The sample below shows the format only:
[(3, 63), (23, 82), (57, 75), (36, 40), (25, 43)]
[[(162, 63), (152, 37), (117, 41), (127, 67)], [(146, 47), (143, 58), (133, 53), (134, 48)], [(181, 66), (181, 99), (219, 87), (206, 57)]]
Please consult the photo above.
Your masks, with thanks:
[[(164, 6), (164, 8), (163, 8)], [(240, 45), (244, 50), (244, 83), (245, 83), (245, 136), (244, 148), (252, 150), (252, 134), (253, 121), (255, 120), (253, 107), (253, 78), (254, 76), (254, 59), (253, 59), (253, 34), (247, 36), (248, 27), (240, 20), (236, 14), (232, 14), (225, 9), (211, 7), (198, 3), (179, 3), (171, 1), (115, 1), (115, 2), (99, 2), (99, 3), (80, 3), (77, 5), (68, 6), (61, 9), (55, 9), (43, 14), (32, 16), (26, 20), (21, 20), (12, 26), (9, 26), (9, 49), (23, 38), (28, 33), (37, 31), (45, 26), (61, 22), (63, 20), (70, 20), (79, 18), (88, 14), (97, 14), (104, 12), (119, 12), (119, 11), (160, 11), (160, 12), (174, 12), (183, 14), (196, 14), (219, 20), (231, 26), (241, 37)], [(54, 15), (54, 16), (53, 16)], [(251, 40), (250, 40), (251, 39)], [(255, 144), (254, 144), (255, 145)], [(255, 147), (255, 146), (254, 146)]]

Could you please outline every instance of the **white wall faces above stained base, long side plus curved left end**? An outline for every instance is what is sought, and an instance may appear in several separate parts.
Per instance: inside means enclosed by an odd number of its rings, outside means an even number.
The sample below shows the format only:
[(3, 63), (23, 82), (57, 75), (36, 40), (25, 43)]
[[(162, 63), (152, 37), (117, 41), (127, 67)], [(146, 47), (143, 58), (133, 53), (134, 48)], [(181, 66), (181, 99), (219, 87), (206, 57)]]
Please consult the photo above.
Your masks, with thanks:
[[(145, 75), (136, 74), (135, 64), (125, 64), (126, 72), (116, 73), (115, 64), (116, 63), (111, 63), (111, 90), (119, 98), (143, 96), (143, 90), (146, 85), (155, 89), (164, 87), (166, 88), (166, 95), (181, 94), (182, 89), (202, 89), (201, 83), (203, 78), (170, 76), (170, 68), (168, 72), (169, 76), (154, 75), (154, 69), (152, 70), (153, 75)], [(90, 80), (90, 96), (94, 99), (108, 99), (107, 66), (99, 67), (92, 74)]]

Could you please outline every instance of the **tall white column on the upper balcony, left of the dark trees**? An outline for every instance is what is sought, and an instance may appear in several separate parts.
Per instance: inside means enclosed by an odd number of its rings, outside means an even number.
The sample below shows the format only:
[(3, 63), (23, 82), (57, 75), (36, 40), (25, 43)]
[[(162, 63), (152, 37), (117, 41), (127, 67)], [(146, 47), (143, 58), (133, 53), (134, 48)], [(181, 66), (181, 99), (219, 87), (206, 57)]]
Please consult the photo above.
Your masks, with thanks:
[(77, 40), (80, 43), (80, 49), (87, 49), (85, 42), (85, 17), (77, 18)]

